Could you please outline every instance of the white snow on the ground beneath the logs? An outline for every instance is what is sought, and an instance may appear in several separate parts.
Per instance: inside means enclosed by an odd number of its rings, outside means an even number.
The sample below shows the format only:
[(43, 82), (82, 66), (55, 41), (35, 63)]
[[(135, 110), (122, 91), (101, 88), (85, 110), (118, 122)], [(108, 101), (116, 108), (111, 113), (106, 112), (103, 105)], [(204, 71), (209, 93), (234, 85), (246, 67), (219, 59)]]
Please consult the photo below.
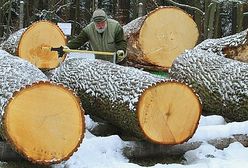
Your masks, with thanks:
[[(95, 124), (86, 116), (86, 127)], [(189, 140), (206, 141), (209, 139), (231, 137), (233, 134), (247, 134), (248, 121), (226, 123), (221, 116), (201, 117), (195, 135)], [(64, 163), (54, 168), (140, 168), (142, 166), (129, 163), (122, 155), (122, 149), (128, 142), (117, 135), (96, 137), (86, 131), (85, 138), (76, 153)], [(248, 148), (235, 142), (223, 150), (203, 143), (199, 148), (184, 154), (185, 162), (178, 164), (157, 163), (152, 168), (244, 168), (248, 165)]]

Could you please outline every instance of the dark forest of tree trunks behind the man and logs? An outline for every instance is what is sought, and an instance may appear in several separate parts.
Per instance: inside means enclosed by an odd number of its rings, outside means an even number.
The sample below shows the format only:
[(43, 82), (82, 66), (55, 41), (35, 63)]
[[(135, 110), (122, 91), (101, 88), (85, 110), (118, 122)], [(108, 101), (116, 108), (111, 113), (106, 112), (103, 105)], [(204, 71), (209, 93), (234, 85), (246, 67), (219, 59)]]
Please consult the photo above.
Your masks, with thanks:
[(91, 20), (96, 8), (122, 25), (159, 6), (177, 6), (194, 18), (200, 41), (223, 37), (248, 27), (246, 0), (1, 0), (0, 40), (38, 20), (72, 23), (72, 36)]

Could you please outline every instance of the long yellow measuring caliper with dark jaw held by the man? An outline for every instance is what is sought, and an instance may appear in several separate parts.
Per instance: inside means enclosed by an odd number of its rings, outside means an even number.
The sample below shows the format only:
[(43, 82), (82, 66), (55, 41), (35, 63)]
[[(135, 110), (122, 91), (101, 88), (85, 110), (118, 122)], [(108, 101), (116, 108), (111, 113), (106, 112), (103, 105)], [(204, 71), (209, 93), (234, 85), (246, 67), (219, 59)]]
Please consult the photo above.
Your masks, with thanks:
[[(104, 51), (89, 51), (89, 50), (72, 50), (64, 48), (63, 46), (55, 48), (55, 47), (42, 47), (42, 49), (49, 50), (49, 51), (56, 51), (59, 57), (63, 57), (65, 53), (86, 53), (86, 54), (97, 54), (97, 55), (107, 55), (113, 57), (113, 63), (116, 63), (116, 53), (115, 52), (104, 52)], [(124, 53), (123, 53), (124, 54)]]

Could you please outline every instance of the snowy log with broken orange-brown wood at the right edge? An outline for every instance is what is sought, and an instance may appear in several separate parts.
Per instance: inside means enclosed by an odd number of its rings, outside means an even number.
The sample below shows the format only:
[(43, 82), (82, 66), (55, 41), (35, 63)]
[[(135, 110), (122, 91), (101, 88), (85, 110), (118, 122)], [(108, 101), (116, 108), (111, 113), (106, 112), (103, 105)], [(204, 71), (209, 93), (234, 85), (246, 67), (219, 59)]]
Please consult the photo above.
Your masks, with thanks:
[(248, 29), (219, 39), (207, 39), (196, 48), (248, 63)]

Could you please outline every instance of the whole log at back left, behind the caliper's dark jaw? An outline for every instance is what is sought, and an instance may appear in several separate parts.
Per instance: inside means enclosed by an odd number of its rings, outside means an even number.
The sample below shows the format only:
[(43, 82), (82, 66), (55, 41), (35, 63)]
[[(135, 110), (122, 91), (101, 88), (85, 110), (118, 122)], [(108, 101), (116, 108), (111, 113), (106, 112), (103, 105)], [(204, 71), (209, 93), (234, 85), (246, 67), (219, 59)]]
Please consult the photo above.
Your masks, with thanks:
[(56, 24), (42, 20), (12, 34), (2, 44), (2, 49), (28, 60), (40, 69), (53, 69), (61, 61), (58, 53), (42, 47), (60, 47), (66, 42), (66, 36)]

